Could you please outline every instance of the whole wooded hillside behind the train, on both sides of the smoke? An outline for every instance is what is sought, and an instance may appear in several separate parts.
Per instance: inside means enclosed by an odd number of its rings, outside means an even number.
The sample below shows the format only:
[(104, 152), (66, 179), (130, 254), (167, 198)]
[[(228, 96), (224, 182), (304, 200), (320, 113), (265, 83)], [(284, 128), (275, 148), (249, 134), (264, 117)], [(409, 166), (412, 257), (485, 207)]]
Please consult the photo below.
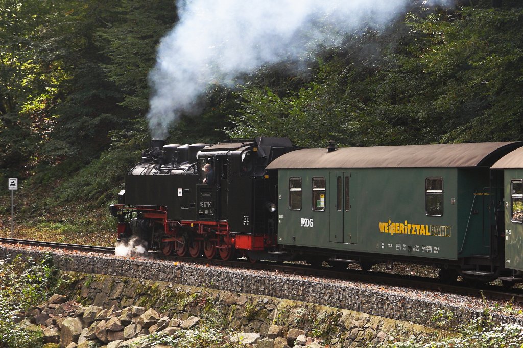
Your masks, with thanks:
[[(0, 0), (0, 236), (17, 177), (15, 237), (114, 243), (107, 206), (149, 147), (148, 74), (177, 20), (173, 0)], [(411, 0), (384, 28), (359, 28), (299, 63), (209, 86), (167, 143), (523, 140), (520, 0)]]

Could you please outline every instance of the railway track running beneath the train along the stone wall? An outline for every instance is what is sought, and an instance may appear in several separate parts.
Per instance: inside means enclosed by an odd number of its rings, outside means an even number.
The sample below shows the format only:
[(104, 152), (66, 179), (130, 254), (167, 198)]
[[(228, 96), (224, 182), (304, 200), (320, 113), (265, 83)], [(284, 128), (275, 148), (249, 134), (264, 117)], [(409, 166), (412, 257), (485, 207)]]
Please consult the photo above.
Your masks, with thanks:
[[(51, 249), (65, 249), (65, 250), (78, 250), (78, 251), (90, 251), (98, 252), (103, 254), (114, 254), (115, 248), (89, 246), (89, 245), (76, 245), (68, 243), (38, 241), (38, 240), (27, 240), (27, 239), (13, 239), (13, 238), (0, 238), (0, 243), (18, 244), (33, 247), (46, 247)], [(523, 304), (523, 289), (521, 288), (504, 288), (502, 286), (494, 286), (490, 284), (481, 285), (479, 287), (465, 286), (462, 282), (456, 282), (452, 284), (446, 284), (440, 282), (438, 279), (433, 277), (424, 277), (416, 275), (404, 275), (404, 274), (391, 274), (383, 272), (362, 272), (359, 270), (347, 269), (344, 271), (335, 271), (329, 267), (320, 267), (317, 269), (311, 268), (307, 264), (294, 264), (294, 263), (277, 263), (270, 261), (258, 261), (251, 263), (246, 259), (237, 259), (223, 261), (220, 259), (198, 259), (191, 257), (165, 257), (160, 253), (151, 253), (149, 255), (153, 258), (163, 259), (166, 261), (183, 261), (192, 264), (204, 264), (204, 265), (215, 265), (225, 266), (230, 268), (237, 268), (243, 270), (257, 270), (267, 271), (276, 273), (290, 273), (298, 274), (306, 277), (310, 277), (311, 280), (317, 279), (337, 279), (337, 280), (348, 280), (372, 283), (384, 286), (398, 286), (398, 287), (409, 287), (419, 289), (420, 291), (436, 291), (441, 293), (457, 294), (464, 296), (474, 297), (485, 297), (488, 299), (509, 301), (513, 300), (520, 304)]]

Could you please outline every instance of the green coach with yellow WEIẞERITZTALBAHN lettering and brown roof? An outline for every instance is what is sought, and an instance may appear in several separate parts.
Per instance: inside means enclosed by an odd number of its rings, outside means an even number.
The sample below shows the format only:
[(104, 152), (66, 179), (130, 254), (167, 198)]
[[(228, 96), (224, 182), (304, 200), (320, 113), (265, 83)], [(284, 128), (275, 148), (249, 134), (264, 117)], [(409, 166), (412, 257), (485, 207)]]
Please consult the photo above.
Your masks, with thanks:
[[(282, 155), (267, 167), (278, 170), (278, 245), (313, 264), (366, 270), (416, 259), (442, 276), (495, 279), (506, 193), (503, 172), (490, 167), (521, 145), (331, 146)], [(512, 181), (519, 211), (522, 173)]]

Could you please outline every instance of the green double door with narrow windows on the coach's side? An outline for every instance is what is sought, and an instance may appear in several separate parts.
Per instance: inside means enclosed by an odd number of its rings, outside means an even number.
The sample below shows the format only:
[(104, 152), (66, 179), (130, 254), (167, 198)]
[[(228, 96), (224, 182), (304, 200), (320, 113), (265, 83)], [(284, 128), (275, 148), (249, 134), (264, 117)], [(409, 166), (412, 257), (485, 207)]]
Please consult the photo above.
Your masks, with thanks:
[(329, 234), (332, 242), (358, 242), (356, 178), (355, 172), (330, 173)]

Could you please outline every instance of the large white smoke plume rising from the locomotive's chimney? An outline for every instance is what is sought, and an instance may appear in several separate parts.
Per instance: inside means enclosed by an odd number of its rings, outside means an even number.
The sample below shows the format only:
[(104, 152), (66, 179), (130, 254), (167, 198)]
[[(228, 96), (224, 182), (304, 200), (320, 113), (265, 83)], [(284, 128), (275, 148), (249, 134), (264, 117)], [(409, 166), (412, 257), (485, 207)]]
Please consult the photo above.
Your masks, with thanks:
[[(423, 3), (442, 3), (431, 0)], [(164, 139), (180, 112), (210, 84), (234, 85), (238, 74), (264, 64), (304, 61), (336, 47), (363, 25), (380, 27), (411, 0), (186, 0), (179, 22), (162, 39), (150, 74), (147, 114), (152, 137)]]

